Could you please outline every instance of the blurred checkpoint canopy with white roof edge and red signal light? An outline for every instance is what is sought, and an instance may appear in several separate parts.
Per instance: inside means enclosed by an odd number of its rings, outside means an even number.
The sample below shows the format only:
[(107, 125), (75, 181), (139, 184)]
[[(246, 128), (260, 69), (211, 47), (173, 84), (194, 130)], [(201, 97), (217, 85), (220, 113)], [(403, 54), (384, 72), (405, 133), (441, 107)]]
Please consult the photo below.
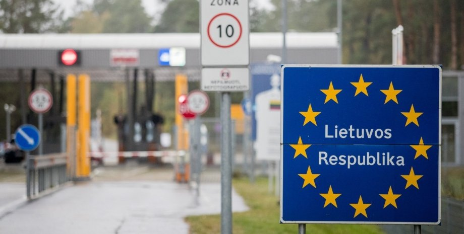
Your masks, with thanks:
[[(334, 32), (287, 33), (286, 39), (288, 61), (336, 62)], [(155, 84), (173, 82), (179, 74), (185, 75), (187, 82), (198, 82), (201, 76), (198, 33), (3, 34), (0, 44), (0, 82), (21, 87), (18, 93), (6, 97), (8, 102), (17, 102), (14, 104), (19, 110), (14, 113), (18, 118), (13, 128), (37, 122), (24, 98), (29, 91), (43, 85), (53, 97), (54, 105), (44, 114), (44, 153), (66, 150), (68, 74), (76, 78), (86, 74), (90, 90), (95, 84), (125, 85), (121, 93), (127, 100), (121, 102), (124, 108), (117, 108), (127, 111), (114, 116), (112, 123), (103, 123), (103, 128), (117, 128), (117, 150), (130, 152), (161, 149), (159, 135), (165, 113), (153, 110)], [(281, 54), (281, 34), (251, 33), (250, 48), (251, 63), (265, 62), (269, 55)], [(142, 91), (145, 97), (138, 98), (136, 94)], [(95, 108), (91, 103), (92, 119)]]

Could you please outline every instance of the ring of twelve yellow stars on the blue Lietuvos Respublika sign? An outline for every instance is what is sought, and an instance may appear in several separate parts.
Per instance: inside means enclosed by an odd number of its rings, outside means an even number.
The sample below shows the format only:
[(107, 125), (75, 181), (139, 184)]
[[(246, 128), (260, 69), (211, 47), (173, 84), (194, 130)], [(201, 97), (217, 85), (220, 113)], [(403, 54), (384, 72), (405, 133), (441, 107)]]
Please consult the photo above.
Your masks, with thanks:
[[(352, 84), (356, 88), (354, 97), (356, 97), (356, 96), (358, 96), (360, 94), (364, 94), (367, 97), (369, 97), (368, 87), (370, 85), (372, 85), (373, 82), (365, 82), (363, 74), (361, 74), (360, 77), (359, 77), (358, 82), (351, 82), (350, 84)], [(330, 102), (330, 101), (333, 101), (336, 104), (338, 104), (337, 95), (340, 92), (342, 92), (342, 90), (341, 89), (335, 89), (332, 81), (330, 81), (329, 87), (327, 89), (320, 90), (320, 91), (324, 95), (326, 95), (324, 104), (326, 104), (327, 102)], [(394, 86), (393, 86), (393, 82), (390, 82), (390, 85), (389, 85), (388, 89), (380, 90), (380, 92), (385, 94), (385, 102), (384, 102), (384, 104), (387, 104), (390, 101), (398, 104), (397, 96), (398, 96), (398, 94), (400, 94), (402, 92), (402, 90), (395, 89)], [(313, 107), (311, 106), (311, 103), (309, 104), (307, 111), (300, 111), (299, 113), (305, 117), (304, 122), (303, 122), (303, 126), (305, 126), (308, 123), (312, 123), (315, 126), (317, 126), (316, 117), (318, 115), (320, 115), (321, 112), (320, 111), (314, 111)], [(401, 114), (407, 118), (406, 122), (405, 122), (405, 125), (404, 125), (405, 127), (408, 126), (411, 123), (414, 123), (415, 125), (417, 125), (419, 127), (418, 118), (423, 114), (423, 112), (416, 112), (416, 110), (414, 108), (414, 104), (411, 104), (411, 108), (410, 108), (409, 112), (401, 112)], [(294, 159), (297, 158), (299, 155), (303, 155), (303, 157), (308, 159), (306, 149), (308, 149), (311, 146), (311, 144), (303, 144), (301, 136), (299, 137), (297, 144), (290, 144), (290, 146), (295, 149)], [(410, 146), (414, 150), (416, 150), (416, 155), (414, 157), (415, 160), (418, 159), (421, 156), (424, 157), (427, 160), (429, 159), (428, 155), (427, 155), (427, 150), (429, 148), (431, 148), (432, 145), (425, 145), (422, 137), (419, 140), (419, 144), (410, 145)], [(298, 174), (298, 175), (304, 180), (302, 188), (305, 188), (307, 185), (311, 185), (312, 187), (316, 188), (316, 181), (315, 180), (316, 180), (316, 178), (318, 178), (320, 176), (320, 174), (314, 174), (311, 171), (310, 166), (308, 166), (306, 174)], [(413, 167), (411, 167), (411, 170), (410, 170), (408, 175), (400, 175), (400, 176), (406, 180), (406, 185), (405, 185), (404, 189), (408, 189), (410, 186), (413, 186), (416, 189), (419, 189), (418, 180), (421, 179), (423, 177), (423, 175), (416, 175), (415, 172), (414, 172)], [(341, 193), (334, 193), (333, 189), (332, 189), (332, 185), (329, 185), (327, 193), (320, 193), (319, 195), (322, 196), (325, 199), (324, 208), (327, 207), (328, 205), (333, 205), (335, 208), (338, 208), (336, 199), (339, 196), (341, 196), (342, 194)], [(381, 196), (385, 200), (385, 203), (384, 203), (384, 206), (383, 206), (384, 209), (387, 208), (390, 205), (392, 207), (396, 208), (396, 209), (398, 208), (397, 205), (396, 205), (396, 199), (398, 199), (401, 196), (401, 194), (393, 193), (393, 190), (392, 190), (391, 186), (389, 186), (389, 189), (388, 189), (387, 193), (379, 194), (379, 196)], [(364, 215), (367, 218), (368, 215), (367, 215), (366, 210), (371, 205), (372, 205), (372, 203), (364, 203), (363, 198), (360, 195), (358, 203), (350, 203), (350, 206), (355, 208), (355, 214), (354, 214), (353, 218), (355, 218), (356, 216), (358, 216), (360, 214)]]

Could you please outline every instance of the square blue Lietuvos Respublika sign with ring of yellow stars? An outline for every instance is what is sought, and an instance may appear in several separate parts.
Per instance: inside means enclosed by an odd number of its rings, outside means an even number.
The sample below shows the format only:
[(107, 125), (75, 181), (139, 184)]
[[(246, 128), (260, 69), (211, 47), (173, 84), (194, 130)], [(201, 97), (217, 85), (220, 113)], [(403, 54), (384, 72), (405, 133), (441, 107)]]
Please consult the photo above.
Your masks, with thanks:
[(440, 66), (281, 72), (282, 223), (440, 223)]

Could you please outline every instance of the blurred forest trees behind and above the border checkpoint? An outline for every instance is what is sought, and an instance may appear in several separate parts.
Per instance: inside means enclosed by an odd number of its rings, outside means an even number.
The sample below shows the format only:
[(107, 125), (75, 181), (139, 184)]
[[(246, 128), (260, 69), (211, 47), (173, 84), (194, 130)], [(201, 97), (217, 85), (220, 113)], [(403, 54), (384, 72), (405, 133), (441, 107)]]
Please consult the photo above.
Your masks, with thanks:
[[(59, 1), (0, 0), (0, 33), (187, 33), (199, 32), (197, 0), (153, 0), (162, 11), (147, 14), (141, 0), (94, 0), (78, 3), (65, 17)], [(282, 0), (260, 8), (250, 0), (250, 31), (280, 32)], [(342, 63), (391, 64), (391, 30), (404, 27), (405, 64), (442, 64), (444, 69), (464, 69), (464, 4), (457, 0), (350, 0), (342, 1)], [(289, 32), (336, 32), (337, 0), (287, 0)], [(2, 81), (0, 81), (1, 83)], [(198, 83), (198, 82), (197, 82)], [(14, 85), (2, 85), (0, 102), (19, 104)], [(198, 84), (190, 84), (190, 90)], [(102, 110), (103, 133), (115, 137), (112, 118), (120, 106), (124, 83), (92, 83), (92, 115)], [(210, 94), (211, 95), (211, 94)], [(172, 96), (172, 97), (171, 97)], [(233, 102), (239, 103), (241, 94)], [(124, 97), (123, 97), (124, 100)], [(156, 85), (154, 110), (173, 122), (173, 83)], [(212, 99), (214, 100), (214, 99)], [(3, 103), (0, 103), (3, 105)], [(210, 110), (206, 116), (214, 116)], [(94, 116), (93, 116), (94, 117)], [(13, 113), (13, 128), (20, 113)], [(0, 115), (0, 123), (5, 115)], [(0, 124), (0, 132), (5, 127)], [(0, 137), (3, 137), (0, 136)]]

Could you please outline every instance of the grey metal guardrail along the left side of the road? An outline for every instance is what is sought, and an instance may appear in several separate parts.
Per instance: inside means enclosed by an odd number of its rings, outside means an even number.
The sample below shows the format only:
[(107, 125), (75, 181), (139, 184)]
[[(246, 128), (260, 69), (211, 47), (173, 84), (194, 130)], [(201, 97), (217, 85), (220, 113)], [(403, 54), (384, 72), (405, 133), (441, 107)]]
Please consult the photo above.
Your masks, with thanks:
[(30, 155), (26, 174), (26, 195), (34, 199), (68, 182), (66, 153)]

